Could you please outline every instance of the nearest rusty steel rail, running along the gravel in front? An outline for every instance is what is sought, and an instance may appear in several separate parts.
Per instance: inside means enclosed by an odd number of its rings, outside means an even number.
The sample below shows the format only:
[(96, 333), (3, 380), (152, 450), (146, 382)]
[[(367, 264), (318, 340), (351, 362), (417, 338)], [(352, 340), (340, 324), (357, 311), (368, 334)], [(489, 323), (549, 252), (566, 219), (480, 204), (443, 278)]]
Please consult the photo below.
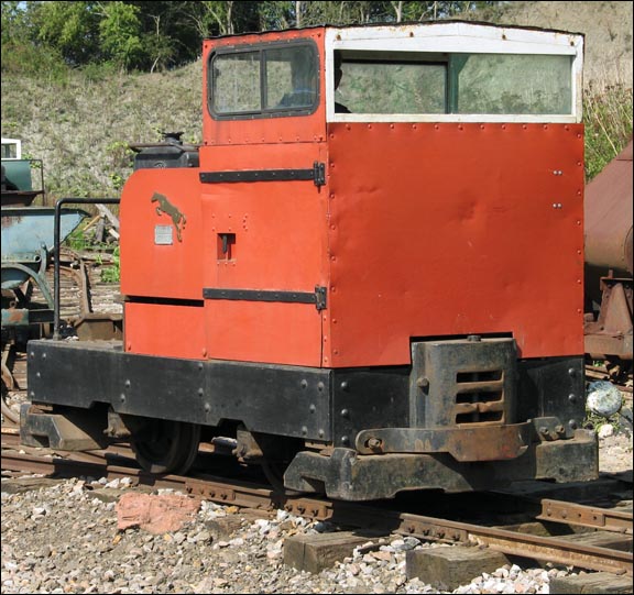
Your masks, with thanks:
[[(4, 436), (2, 442), (4, 445)], [(133, 484), (172, 487), (193, 496), (238, 507), (285, 510), (320, 520), (331, 520), (341, 526), (360, 527), (373, 531), (419, 537), (428, 540), (482, 544), (506, 554), (534, 558), (588, 570), (632, 575), (633, 557), (630, 552), (598, 546), (577, 543), (562, 538), (538, 537), (507, 529), (482, 527), (435, 517), (403, 514), (343, 502), (286, 496), (244, 482), (228, 484), (226, 480), (203, 476), (155, 476), (138, 469), (113, 465), (105, 460), (76, 461), (73, 459), (42, 459), (29, 454), (2, 452), (2, 469), (58, 475), (131, 477)]]

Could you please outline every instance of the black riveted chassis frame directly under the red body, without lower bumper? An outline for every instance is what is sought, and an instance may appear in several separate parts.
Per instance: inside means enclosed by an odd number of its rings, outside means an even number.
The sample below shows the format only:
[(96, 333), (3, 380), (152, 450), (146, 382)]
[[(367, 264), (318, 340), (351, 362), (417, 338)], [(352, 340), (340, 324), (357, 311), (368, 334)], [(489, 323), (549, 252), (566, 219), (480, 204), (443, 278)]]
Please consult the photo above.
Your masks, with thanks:
[[(218, 426), (354, 444), (368, 428), (408, 428), (411, 366), (317, 368), (124, 353), (120, 342), (29, 343), (35, 404)], [(557, 417), (567, 430), (584, 415), (583, 359), (518, 362), (516, 419)]]

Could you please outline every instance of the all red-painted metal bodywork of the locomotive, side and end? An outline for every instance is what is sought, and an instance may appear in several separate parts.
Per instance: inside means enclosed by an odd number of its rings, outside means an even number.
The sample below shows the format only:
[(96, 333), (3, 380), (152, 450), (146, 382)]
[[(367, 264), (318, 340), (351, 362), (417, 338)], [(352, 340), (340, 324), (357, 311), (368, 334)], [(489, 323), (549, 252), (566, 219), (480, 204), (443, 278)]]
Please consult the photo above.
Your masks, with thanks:
[[(270, 40), (299, 35), (316, 41), (323, 60), (319, 27)], [(206, 42), (204, 59), (212, 43), (238, 41)], [(582, 125), (327, 129), (324, 106), (321, 95), (311, 115), (237, 121), (214, 121), (205, 108), (199, 170), (132, 175), (121, 203), (121, 289), (134, 298), (125, 309), (129, 351), (380, 366), (409, 364), (412, 338), (507, 334), (523, 357), (583, 353)], [(314, 162), (326, 164), (325, 186), (198, 179)], [(156, 192), (184, 216), (181, 240), (152, 202)], [(172, 244), (157, 245), (156, 225), (173, 225)], [(317, 285), (328, 289), (323, 311), (203, 298), (205, 288)]]

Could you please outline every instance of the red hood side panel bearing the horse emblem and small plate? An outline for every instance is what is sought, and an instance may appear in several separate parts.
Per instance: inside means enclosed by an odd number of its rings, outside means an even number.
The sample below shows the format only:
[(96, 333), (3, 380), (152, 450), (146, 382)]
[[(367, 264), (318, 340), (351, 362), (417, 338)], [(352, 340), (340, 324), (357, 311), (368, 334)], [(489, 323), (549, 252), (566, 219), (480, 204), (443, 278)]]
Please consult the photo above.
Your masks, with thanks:
[[(155, 194), (166, 197), (184, 219), (173, 219), (158, 200), (152, 200)], [(125, 304), (125, 351), (166, 357), (204, 357), (198, 172), (134, 172), (123, 188), (120, 216), (121, 293), (128, 298), (150, 301)], [(171, 244), (156, 244), (156, 227), (171, 230)], [(155, 299), (198, 300), (199, 307), (151, 302)]]

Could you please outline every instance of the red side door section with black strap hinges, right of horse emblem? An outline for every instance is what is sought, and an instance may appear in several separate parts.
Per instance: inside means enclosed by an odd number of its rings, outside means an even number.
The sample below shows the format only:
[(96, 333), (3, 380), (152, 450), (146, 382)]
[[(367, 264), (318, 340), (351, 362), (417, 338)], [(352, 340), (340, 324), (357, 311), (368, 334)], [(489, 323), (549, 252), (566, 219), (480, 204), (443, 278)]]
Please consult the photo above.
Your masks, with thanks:
[[(215, 172), (310, 168), (319, 144), (212, 147)], [(205, 167), (203, 167), (205, 170)], [(205, 287), (313, 293), (325, 285), (327, 192), (313, 181), (205, 185)], [(234, 234), (230, 258), (218, 234)], [(208, 300), (209, 357), (319, 366), (321, 316), (309, 304)]]

